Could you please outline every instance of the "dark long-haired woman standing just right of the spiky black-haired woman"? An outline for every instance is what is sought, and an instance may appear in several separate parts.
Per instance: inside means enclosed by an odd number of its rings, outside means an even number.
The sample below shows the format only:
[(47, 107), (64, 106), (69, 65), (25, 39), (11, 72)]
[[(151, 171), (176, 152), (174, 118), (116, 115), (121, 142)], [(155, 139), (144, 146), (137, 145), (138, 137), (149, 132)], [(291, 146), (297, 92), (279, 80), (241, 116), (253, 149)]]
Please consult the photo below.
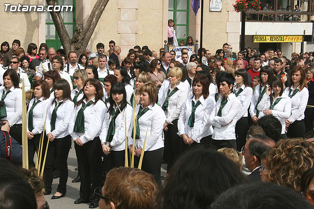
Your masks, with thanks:
[(235, 137), (237, 150), (246, 143), (246, 135), (249, 130), (249, 121), (247, 118), (248, 109), (251, 104), (253, 89), (249, 84), (249, 76), (246, 70), (239, 69), (235, 71), (235, 96), (241, 101), (241, 109), (238, 112), (238, 120), (235, 124)]

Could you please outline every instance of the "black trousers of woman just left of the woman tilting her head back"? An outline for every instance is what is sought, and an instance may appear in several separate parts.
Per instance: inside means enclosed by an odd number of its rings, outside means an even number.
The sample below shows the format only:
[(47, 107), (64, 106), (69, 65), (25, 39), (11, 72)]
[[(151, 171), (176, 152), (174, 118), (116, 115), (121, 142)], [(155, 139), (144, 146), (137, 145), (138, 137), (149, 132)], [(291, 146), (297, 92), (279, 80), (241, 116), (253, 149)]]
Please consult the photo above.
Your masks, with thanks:
[[(45, 135), (46, 136), (46, 135)], [(47, 136), (45, 137), (43, 144), (45, 147), (47, 145)], [(57, 192), (62, 194), (66, 193), (67, 181), (68, 181), (68, 156), (71, 147), (71, 136), (68, 135), (63, 138), (56, 138), (53, 141), (49, 141), (47, 158), (45, 164), (45, 189), (46, 192), (52, 191), (52, 180), (53, 180), (53, 163), (54, 158), (56, 157), (58, 162), (58, 169), (60, 173), (59, 185), (57, 187)], [(45, 151), (43, 151), (43, 155), (45, 155)], [(56, 155), (56, 156), (55, 156)]]

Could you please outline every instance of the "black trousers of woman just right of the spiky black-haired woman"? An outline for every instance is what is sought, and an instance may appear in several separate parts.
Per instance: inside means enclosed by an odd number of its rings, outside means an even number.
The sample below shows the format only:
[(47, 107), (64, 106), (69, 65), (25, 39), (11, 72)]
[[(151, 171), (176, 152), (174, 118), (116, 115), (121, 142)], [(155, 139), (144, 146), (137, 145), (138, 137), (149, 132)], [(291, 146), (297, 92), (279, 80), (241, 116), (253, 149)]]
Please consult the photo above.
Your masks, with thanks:
[(236, 149), (241, 151), (241, 148), (246, 143), (246, 136), (249, 130), (248, 117), (241, 117), (235, 124)]

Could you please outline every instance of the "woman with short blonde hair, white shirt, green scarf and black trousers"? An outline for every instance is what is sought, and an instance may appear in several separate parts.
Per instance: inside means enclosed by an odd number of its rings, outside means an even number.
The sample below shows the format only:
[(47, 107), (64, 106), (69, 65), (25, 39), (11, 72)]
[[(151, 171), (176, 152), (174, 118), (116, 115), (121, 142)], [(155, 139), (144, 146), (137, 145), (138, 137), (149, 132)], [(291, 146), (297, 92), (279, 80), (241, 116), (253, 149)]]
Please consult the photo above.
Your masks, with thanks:
[(163, 124), (165, 136), (165, 149), (167, 152), (167, 172), (183, 152), (183, 140), (178, 136), (178, 119), (188, 92), (181, 81), (182, 70), (173, 67), (169, 73), (170, 85), (164, 90), (165, 101), (162, 110), (165, 111), (166, 120)]

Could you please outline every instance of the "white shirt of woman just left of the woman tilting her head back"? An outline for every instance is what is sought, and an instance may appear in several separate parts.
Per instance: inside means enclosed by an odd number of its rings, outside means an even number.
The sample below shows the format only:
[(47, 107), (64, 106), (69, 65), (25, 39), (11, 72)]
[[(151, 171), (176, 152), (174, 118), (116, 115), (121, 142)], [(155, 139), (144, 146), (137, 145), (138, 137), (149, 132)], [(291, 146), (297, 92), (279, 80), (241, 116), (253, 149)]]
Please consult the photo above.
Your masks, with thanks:
[[(50, 132), (52, 132), (53, 136), (55, 138), (63, 138), (68, 136), (69, 133), (69, 123), (70, 120), (72, 119), (72, 113), (74, 110), (74, 103), (70, 100), (66, 100), (65, 102), (63, 102), (63, 100), (61, 100), (63, 103), (60, 105), (60, 107), (57, 110), (57, 117), (55, 119), (55, 126), (54, 126), (54, 130), (51, 131), (51, 116), (52, 116), (52, 111), (55, 107), (54, 105), (54, 101), (57, 102), (57, 105), (59, 104), (58, 102), (58, 98), (56, 98), (55, 100), (53, 100), (53, 104), (52, 102), (50, 103), (49, 107), (48, 107), (48, 114), (47, 114), (47, 120), (46, 120), (46, 134), (49, 134)], [(60, 101), (60, 102), (61, 102)]]

